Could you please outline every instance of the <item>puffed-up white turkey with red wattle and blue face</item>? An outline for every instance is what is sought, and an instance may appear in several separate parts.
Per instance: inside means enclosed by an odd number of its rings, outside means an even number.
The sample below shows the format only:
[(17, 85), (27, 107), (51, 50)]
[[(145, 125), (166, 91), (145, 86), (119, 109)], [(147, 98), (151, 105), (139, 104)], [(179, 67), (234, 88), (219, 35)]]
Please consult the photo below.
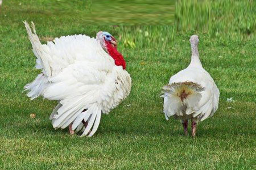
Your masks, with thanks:
[(96, 39), (86, 35), (62, 36), (41, 44), (35, 25), (25, 21), (28, 37), (36, 56), (36, 69), (42, 70), (24, 89), (35, 99), (43, 96), (57, 100), (51, 113), (53, 128), (69, 133), (81, 131), (91, 137), (100, 124), (101, 113), (108, 114), (131, 90), (126, 62), (117, 43), (108, 32)]

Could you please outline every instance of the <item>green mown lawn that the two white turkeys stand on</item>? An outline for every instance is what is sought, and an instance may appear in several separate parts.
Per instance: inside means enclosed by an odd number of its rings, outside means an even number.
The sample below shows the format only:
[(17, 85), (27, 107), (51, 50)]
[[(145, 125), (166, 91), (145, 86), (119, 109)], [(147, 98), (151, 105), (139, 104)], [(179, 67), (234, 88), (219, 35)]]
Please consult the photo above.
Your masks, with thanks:
[[(255, 11), (250, 16), (242, 11), (252, 12), (253, 1), (230, 1), (236, 3), (229, 19), (226, 10), (218, 9), (222, 1), (214, 1), (210, 10), (209, 4), (178, 1), (174, 26), (120, 27), (79, 22), (76, 16), (82, 12), (65, 18), (36, 8), (46, 2), (15, 6), (18, 1), (4, 0), (1, 9), (0, 169), (256, 169)], [(200, 8), (205, 21), (184, 27), (188, 21), (183, 17), (190, 16), (184, 8)], [(31, 101), (22, 93), (39, 73), (22, 20), (34, 21), (42, 42), (76, 33), (94, 37), (102, 30), (117, 38), (133, 87), (119, 107), (102, 115), (93, 137), (53, 129), (48, 117), (56, 101)], [(193, 139), (183, 135), (178, 120), (166, 121), (159, 96), (170, 76), (188, 66), (188, 40), (195, 33), (201, 62), (220, 89), (220, 104), (213, 117), (199, 124)], [(31, 113), (36, 117), (30, 118)]]

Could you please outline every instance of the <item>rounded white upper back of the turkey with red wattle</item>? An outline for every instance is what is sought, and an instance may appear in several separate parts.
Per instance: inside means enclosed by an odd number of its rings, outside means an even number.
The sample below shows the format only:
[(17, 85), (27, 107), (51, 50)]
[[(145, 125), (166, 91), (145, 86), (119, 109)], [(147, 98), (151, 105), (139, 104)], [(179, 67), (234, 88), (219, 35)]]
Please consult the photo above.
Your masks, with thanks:
[(76, 62), (100, 65), (102, 69), (112, 69), (114, 60), (106, 53), (98, 40), (85, 35), (62, 36), (43, 45), (49, 58), (51, 76), (56, 76), (65, 67)]

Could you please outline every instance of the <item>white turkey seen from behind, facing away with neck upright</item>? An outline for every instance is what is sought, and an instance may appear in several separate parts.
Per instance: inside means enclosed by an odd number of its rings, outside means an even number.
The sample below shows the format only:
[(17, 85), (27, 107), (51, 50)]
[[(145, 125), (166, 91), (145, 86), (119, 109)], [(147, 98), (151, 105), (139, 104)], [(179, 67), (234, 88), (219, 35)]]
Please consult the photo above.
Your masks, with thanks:
[(185, 135), (188, 133), (188, 120), (191, 120), (192, 137), (195, 137), (197, 123), (216, 112), (220, 92), (200, 62), (197, 48), (199, 37), (193, 35), (189, 41), (191, 63), (186, 69), (171, 76), (169, 84), (163, 87), (163, 112), (167, 120), (170, 116), (181, 120)]

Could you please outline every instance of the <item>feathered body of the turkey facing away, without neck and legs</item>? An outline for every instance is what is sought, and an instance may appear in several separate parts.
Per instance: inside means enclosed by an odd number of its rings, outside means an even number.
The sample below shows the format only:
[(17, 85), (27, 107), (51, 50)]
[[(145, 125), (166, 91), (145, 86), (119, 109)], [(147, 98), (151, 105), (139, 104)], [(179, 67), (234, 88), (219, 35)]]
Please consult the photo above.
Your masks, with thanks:
[[(176, 87), (172, 86), (177, 86), (177, 84), (179, 88), (184, 88), (185, 86), (191, 93), (187, 92), (187, 95), (190, 94), (190, 96), (185, 96), (188, 98), (183, 101), (179, 99), (181, 92), (178, 95), (175, 90), (171, 93), (169, 89), (166, 91), (164, 113), (167, 119), (170, 116), (175, 116), (183, 120), (194, 118), (198, 122), (212, 116), (217, 110), (219, 91), (214, 80), (203, 67), (188, 66), (186, 69), (171, 76), (168, 85), (170, 89), (175, 89)], [(196, 89), (198, 90), (197, 92)]]

